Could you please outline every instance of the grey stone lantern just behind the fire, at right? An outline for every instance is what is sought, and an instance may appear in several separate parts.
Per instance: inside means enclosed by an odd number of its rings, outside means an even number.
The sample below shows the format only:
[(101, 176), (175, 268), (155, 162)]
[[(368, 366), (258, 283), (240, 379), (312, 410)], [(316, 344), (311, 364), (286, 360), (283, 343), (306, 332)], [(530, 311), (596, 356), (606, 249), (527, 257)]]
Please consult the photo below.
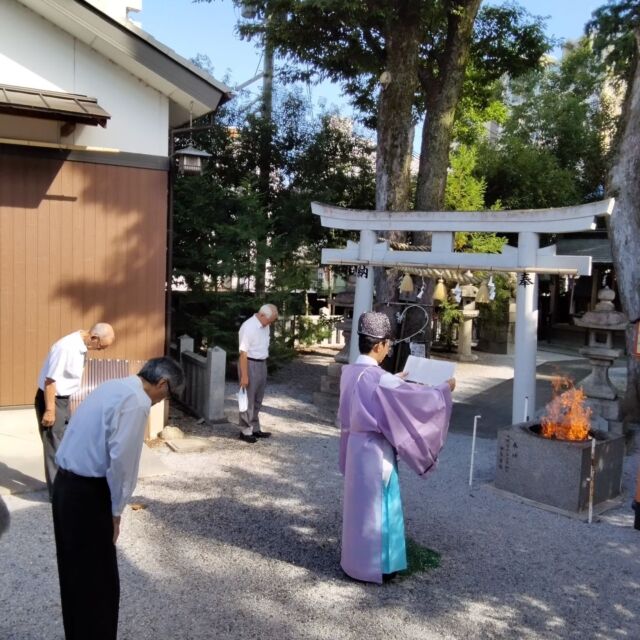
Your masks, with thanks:
[(591, 363), (591, 373), (580, 386), (587, 395), (587, 403), (594, 414), (607, 421), (609, 431), (622, 431), (622, 408), (618, 390), (609, 379), (609, 368), (622, 355), (613, 348), (613, 332), (625, 331), (629, 321), (624, 313), (616, 311), (614, 291), (604, 287), (598, 291), (598, 304), (581, 318), (573, 321), (578, 327), (589, 330), (589, 344), (580, 349)]

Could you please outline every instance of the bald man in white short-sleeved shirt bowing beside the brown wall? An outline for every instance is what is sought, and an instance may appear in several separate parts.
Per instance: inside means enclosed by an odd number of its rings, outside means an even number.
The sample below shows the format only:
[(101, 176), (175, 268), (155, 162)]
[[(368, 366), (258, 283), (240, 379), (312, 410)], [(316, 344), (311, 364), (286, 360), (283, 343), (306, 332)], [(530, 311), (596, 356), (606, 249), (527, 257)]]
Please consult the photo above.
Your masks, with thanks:
[(89, 331), (81, 329), (60, 338), (49, 350), (38, 377), (34, 401), (38, 430), (44, 449), (44, 476), (53, 495), (55, 456), (69, 422), (69, 396), (80, 388), (87, 350), (101, 351), (115, 340), (113, 327), (98, 322)]

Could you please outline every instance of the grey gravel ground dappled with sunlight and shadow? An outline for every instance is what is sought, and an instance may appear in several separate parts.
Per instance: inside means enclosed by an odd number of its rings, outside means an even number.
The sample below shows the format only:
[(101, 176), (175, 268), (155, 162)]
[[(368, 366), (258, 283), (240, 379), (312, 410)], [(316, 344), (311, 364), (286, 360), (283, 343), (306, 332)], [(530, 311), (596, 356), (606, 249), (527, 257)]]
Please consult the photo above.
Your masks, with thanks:
[[(310, 404), (327, 362), (306, 355), (272, 377), (273, 437), (255, 445), (174, 416), (212, 447), (156, 448), (170, 473), (138, 483), (146, 508), (127, 510), (118, 544), (121, 639), (640, 638), (629, 500), (587, 525), (504, 498), (488, 486), (495, 440), (477, 442), (471, 493), (465, 435), (450, 435), (426, 481), (401, 470), (407, 532), (442, 555), (438, 569), (381, 587), (346, 579), (338, 432)], [(0, 638), (62, 638), (49, 504), (43, 492), (6, 502)]]

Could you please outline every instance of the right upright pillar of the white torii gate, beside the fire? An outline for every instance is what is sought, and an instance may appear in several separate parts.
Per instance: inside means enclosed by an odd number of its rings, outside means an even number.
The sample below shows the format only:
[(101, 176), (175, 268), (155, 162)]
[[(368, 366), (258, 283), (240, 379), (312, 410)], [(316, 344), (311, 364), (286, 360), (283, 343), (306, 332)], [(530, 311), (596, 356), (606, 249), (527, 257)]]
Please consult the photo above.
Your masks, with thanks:
[[(531, 231), (518, 236), (518, 264), (535, 266), (540, 237)], [(525, 398), (528, 413), (536, 410), (536, 352), (538, 350), (538, 278), (534, 273), (519, 272), (516, 294), (516, 354), (513, 376), (513, 424), (522, 422)]]

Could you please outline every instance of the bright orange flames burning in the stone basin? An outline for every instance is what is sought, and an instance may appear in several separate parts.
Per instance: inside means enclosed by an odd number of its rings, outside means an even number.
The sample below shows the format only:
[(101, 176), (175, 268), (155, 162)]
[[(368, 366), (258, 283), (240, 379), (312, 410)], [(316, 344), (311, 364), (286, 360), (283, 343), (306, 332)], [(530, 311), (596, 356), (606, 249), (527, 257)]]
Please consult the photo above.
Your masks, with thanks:
[(584, 391), (576, 389), (569, 378), (556, 377), (551, 384), (554, 398), (540, 422), (540, 434), (558, 440), (587, 440), (592, 412), (585, 405)]

